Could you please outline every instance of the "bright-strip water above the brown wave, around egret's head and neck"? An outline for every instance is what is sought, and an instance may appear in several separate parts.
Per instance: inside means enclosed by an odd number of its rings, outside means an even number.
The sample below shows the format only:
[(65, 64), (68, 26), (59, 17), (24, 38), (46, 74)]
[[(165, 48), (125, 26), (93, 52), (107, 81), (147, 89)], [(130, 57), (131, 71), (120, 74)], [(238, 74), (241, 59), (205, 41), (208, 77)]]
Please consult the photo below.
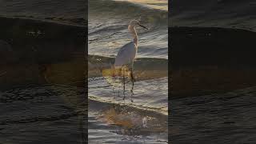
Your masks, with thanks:
[[(126, 9), (122, 7), (126, 6)], [(167, 4), (166, 4), (167, 7)], [(138, 28), (138, 58), (168, 58), (168, 11), (125, 1), (89, 1), (89, 54), (113, 57), (132, 41), (127, 27), (141, 17), (149, 28)]]

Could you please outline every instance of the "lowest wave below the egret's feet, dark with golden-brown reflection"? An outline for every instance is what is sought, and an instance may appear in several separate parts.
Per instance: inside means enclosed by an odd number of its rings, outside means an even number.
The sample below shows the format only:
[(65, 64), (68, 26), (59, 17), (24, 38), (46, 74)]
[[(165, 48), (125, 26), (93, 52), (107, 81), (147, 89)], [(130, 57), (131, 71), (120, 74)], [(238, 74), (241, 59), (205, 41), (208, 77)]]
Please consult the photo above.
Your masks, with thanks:
[[(168, 116), (159, 113), (158, 110), (138, 108), (136, 106), (101, 102), (95, 98), (89, 98), (89, 123), (90, 129), (102, 128), (98, 122), (104, 122), (112, 126), (119, 126), (123, 130), (116, 130), (122, 135), (144, 135), (164, 134), (167, 137)], [(95, 115), (94, 117), (92, 117)], [(92, 118), (94, 118), (92, 120)], [(94, 124), (95, 123), (95, 124)]]

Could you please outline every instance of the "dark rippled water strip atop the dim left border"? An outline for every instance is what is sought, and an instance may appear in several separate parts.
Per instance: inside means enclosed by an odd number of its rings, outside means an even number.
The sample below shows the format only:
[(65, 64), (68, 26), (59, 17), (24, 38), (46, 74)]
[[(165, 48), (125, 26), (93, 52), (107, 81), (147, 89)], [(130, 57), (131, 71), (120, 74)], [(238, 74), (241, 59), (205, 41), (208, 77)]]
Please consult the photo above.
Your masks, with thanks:
[(85, 26), (86, 3), (83, 0), (25, 0), (1, 1), (3, 17), (34, 18)]

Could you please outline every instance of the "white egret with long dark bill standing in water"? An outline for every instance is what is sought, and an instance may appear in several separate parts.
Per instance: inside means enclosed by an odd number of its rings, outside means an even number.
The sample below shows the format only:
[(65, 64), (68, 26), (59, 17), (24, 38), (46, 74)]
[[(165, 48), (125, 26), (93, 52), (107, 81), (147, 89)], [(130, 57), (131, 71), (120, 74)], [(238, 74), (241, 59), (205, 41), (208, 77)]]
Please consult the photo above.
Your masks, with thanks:
[(134, 58), (136, 58), (136, 54), (138, 51), (138, 34), (136, 32), (136, 27), (137, 26), (141, 26), (142, 28), (148, 30), (148, 28), (146, 26), (142, 26), (142, 24), (138, 21), (138, 20), (132, 20), (130, 21), (130, 24), (128, 26), (128, 30), (130, 31), (130, 34), (132, 34), (132, 36), (134, 37), (134, 40), (132, 42), (127, 43), (126, 45), (122, 46), (120, 48), (120, 50), (118, 51), (118, 54), (115, 58), (114, 61), (114, 69), (120, 69), (123, 70), (123, 94), (125, 98), (125, 86), (126, 86), (126, 82), (125, 82), (125, 75), (124, 75), (124, 70), (123, 69), (125, 66), (129, 66), (130, 69), (130, 78), (131, 78), (131, 82), (132, 82), (132, 88), (130, 90), (131, 92), (131, 102), (133, 102), (132, 100), (132, 96), (134, 94)]

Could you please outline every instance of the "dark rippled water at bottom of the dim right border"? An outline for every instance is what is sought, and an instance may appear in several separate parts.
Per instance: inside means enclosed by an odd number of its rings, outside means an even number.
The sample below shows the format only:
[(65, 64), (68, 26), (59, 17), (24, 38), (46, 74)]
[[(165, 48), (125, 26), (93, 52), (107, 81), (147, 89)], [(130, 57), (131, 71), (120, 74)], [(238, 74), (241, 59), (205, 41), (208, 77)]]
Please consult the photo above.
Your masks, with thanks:
[(255, 86), (170, 102), (174, 143), (255, 143)]

